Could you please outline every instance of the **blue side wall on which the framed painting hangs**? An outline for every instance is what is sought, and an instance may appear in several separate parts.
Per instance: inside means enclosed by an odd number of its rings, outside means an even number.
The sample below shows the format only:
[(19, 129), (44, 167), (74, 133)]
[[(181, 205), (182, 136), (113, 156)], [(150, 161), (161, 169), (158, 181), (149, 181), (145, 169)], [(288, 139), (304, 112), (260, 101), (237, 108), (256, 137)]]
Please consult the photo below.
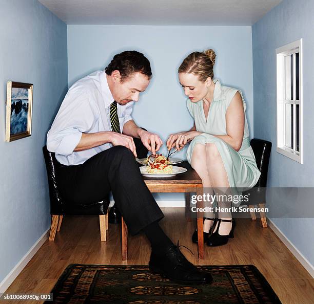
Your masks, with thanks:
[[(1, 282), (50, 225), (42, 147), (67, 91), (67, 27), (37, 0), (3, 0), (0, 41)], [(32, 135), (9, 143), (8, 80), (34, 85)]]

